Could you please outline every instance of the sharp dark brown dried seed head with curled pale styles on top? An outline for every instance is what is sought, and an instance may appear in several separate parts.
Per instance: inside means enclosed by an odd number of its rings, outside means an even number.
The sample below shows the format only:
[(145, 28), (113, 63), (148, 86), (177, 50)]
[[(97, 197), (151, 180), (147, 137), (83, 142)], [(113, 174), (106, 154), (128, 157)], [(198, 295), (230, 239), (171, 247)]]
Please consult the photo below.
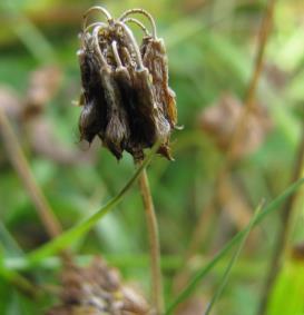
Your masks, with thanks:
[[(87, 26), (92, 11), (106, 22)], [(151, 24), (151, 33), (139, 20)], [(128, 27), (139, 27), (140, 46)], [(84, 16), (81, 48), (78, 51), (84, 109), (79, 119), (80, 138), (89, 142), (98, 136), (117, 159), (124, 150), (136, 160), (144, 149), (160, 141), (159, 154), (171, 159), (169, 137), (177, 124), (175, 93), (168, 87), (168, 62), (164, 40), (157, 38), (153, 17), (143, 9), (126, 11), (114, 19), (101, 7)]]

